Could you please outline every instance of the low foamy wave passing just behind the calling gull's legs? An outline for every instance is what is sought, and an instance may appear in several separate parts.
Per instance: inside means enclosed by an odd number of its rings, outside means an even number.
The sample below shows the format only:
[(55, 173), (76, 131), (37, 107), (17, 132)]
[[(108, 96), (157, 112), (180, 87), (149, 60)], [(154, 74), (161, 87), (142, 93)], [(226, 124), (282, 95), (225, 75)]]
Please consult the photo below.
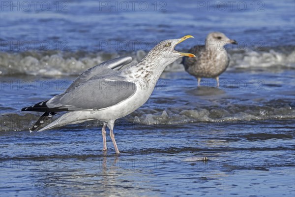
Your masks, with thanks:
[[(273, 100), (272, 102), (275, 102)], [(292, 105), (292, 103), (291, 103)], [(145, 127), (147, 125), (177, 125), (186, 123), (214, 123), (215, 125), (230, 126), (236, 122), (290, 120), (295, 119), (295, 108), (289, 104), (280, 106), (252, 106), (237, 105), (231, 109), (203, 107), (199, 109), (182, 110), (180, 108), (138, 109), (130, 115), (118, 119), (117, 127)], [(5, 113), (1, 114), (0, 131), (29, 131), (29, 128), (38, 120), (39, 113)], [(58, 115), (56, 115), (58, 117)], [(45, 124), (50, 123), (46, 122)], [(255, 123), (256, 122), (256, 123)], [(68, 128), (95, 128), (102, 125), (100, 121), (88, 121), (77, 125), (68, 125)]]

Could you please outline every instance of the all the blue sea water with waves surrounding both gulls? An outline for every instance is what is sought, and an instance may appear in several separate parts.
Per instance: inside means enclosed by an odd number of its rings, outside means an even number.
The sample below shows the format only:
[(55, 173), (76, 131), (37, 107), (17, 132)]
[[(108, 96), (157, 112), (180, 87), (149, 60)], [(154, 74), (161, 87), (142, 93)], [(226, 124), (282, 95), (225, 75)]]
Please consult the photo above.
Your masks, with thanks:
[[(187, 51), (220, 31), (231, 63), (196, 79), (168, 66), (141, 108), (117, 120), (29, 133), (25, 106), (103, 61), (140, 61), (163, 39)], [(295, 1), (0, 1), (1, 196), (295, 195)], [(207, 157), (207, 161), (204, 160)]]

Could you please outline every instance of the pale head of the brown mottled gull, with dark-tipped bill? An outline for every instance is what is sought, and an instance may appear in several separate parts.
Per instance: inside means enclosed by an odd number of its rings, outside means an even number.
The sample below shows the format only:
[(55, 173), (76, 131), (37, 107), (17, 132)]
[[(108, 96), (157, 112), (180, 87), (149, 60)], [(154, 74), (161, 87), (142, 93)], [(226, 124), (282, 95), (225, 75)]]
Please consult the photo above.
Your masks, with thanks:
[(236, 40), (228, 38), (224, 33), (212, 32), (207, 35), (206, 45), (207, 46), (218, 46), (224, 47), (227, 44), (237, 44)]

